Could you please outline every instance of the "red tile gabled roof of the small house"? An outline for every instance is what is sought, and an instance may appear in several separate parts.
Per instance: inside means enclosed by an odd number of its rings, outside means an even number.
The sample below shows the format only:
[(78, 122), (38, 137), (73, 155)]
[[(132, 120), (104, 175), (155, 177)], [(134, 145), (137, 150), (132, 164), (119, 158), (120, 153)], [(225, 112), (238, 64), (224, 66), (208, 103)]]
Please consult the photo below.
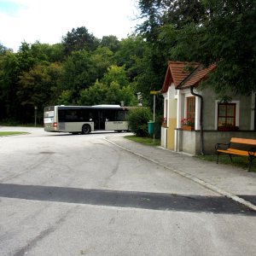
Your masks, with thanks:
[(177, 89), (197, 86), (215, 67), (204, 68), (198, 62), (169, 61), (161, 92), (165, 93), (172, 83)]

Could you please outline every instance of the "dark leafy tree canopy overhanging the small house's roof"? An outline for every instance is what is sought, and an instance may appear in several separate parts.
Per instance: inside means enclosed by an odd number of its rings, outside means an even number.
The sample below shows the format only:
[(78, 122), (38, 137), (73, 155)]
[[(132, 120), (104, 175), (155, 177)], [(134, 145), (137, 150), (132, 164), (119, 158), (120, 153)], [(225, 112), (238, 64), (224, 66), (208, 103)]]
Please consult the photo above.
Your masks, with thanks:
[(254, 0), (139, 3), (146, 21), (154, 21), (148, 30), (145, 21), (141, 31), (150, 42), (168, 49), (162, 52), (169, 59), (199, 61), (205, 66), (217, 63), (207, 84), (212, 84), (219, 95), (230, 90), (241, 94), (255, 90)]

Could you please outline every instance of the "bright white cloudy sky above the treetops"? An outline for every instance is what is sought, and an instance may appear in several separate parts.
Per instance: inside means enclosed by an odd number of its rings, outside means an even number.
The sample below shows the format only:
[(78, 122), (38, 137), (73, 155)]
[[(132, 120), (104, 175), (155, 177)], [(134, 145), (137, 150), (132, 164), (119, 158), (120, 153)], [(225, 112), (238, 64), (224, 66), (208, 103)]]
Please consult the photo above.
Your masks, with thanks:
[(0, 0), (0, 44), (61, 43), (73, 28), (85, 26), (96, 38), (127, 38), (139, 23), (137, 0)]

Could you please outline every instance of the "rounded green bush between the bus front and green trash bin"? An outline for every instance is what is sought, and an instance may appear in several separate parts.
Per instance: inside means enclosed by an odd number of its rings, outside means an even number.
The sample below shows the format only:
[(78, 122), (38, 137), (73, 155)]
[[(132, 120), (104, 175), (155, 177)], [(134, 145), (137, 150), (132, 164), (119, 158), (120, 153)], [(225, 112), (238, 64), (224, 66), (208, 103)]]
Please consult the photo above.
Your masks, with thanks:
[(149, 108), (134, 108), (131, 109), (127, 116), (129, 121), (129, 129), (138, 137), (148, 136), (148, 121), (152, 118), (152, 113)]

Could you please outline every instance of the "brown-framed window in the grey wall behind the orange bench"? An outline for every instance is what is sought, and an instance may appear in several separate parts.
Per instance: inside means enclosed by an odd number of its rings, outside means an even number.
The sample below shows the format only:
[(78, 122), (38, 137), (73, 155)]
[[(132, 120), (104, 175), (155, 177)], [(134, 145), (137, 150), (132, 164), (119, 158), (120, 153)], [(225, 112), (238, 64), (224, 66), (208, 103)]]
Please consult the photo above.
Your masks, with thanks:
[(218, 129), (236, 127), (236, 103), (218, 103)]

